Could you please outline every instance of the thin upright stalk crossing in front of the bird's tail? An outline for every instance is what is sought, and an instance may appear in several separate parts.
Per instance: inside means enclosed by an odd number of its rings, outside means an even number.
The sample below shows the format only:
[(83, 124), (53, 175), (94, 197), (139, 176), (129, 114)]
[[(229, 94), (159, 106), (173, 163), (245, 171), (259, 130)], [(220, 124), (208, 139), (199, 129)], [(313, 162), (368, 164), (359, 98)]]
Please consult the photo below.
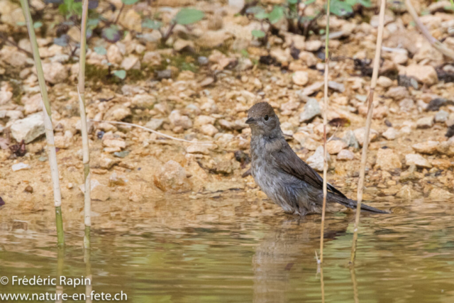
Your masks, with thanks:
[(320, 263), (323, 263), (323, 238), (325, 233), (325, 212), (326, 212), (326, 175), (328, 171), (328, 160), (326, 159), (326, 115), (328, 112), (328, 72), (329, 72), (329, 9), (330, 0), (326, 4), (326, 33), (325, 33), (325, 87), (323, 97), (323, 206), (321, 209), (321, 228), (320, 228)]

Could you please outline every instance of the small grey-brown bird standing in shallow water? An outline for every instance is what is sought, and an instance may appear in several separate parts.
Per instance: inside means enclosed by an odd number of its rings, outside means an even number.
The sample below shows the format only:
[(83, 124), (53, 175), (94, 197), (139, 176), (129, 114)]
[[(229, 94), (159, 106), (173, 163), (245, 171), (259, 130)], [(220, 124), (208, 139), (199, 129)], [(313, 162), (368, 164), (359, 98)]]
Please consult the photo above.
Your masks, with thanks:
[[(285, 141), (279, 118), (270, 104), (260, 102), (248, 111), (252, 138), (250, 139), (251, 172), (255, 182), (268, 198), (290, 214), (321, 214), (323, 204), (323, 179), (301, 160)], [(326, 209), (342, 204), (356, 209), (356, 201), (348, 199), (333, 185), (328, 184)], [(387, 211), (365, 204), (361, 209), (380, 214)]]

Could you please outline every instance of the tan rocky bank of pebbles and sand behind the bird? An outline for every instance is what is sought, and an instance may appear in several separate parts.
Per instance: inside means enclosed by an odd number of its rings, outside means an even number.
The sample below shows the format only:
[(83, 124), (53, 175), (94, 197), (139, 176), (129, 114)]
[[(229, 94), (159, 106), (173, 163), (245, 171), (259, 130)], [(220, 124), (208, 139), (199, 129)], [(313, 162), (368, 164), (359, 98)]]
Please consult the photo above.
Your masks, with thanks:
[[(50, 5), (31, 1), (43, 23), (63, 20)], [(165, 3), (164, 3), (165, 2)], [(184, 3), (183, 3), (184, 2)], [(266, 1), (264, 1), (266, 2)], [(445, 6), (449, 6), (448, 1)], [(116, 10), (106, 11), (106, 6)], [(176, 26), (164, 45), (161, 34), (140, 26), (140, 13), (163, 19), (180, 6), (196, 6), (205, 17)], [(454, 15), (445, 6), (415, 4), (431, 34), (454, 48)], [(121, 1), (96, 11), (116, 20)], [(26, 28), (19, 6), (0, 0), (0, 197), (25, 211), (52, 206), (42, 105)], [(140, 13), (139, 13), (140, 12)], [(384, 48), (370, 133), (365, 199), (453, 197), (454, 65), (423, 39), (405, 9), (387, 10)], [(323, 27), (326, 19), (316, 21)], [(330, 40), (328, 180), (355, 197), (364, 138), (370, 59), (377, 16), (370, 9), (348, 19), (332, 16)], [(323, 167), (323, 36), (279, 33), (266, 45), (251, 34), (260, 22), (223, 1), (157, 1), (125, 6), (118, 17), (125, 35), (115, 43), (94, 36), (87, 53), (87, 114), (94, 121), (124, 121), (192, 141), (174, 141), (141, 128), (89, 122), (94, 203), (109, 199), (146, 202), (173, 194), (190, 199), (242, 191), (265, 198), (248, 171), (247, 110), (258, 101), (275, 108), (289, 144), (316, 170)], [(82, 143), (77, 99), (77, 26), (66, 29), (67, 47), (55, 43), (57, 29), (37, 32), (52, 103), (52, 123), (63, 204), (82, 207)], [(103, 47), (102, 55), (94, 50)], [(21, 50), (18, 50), (18, 47)], [(106, 65), (109, 62), (109, 65)], [(112, 76), (125, 70), (126, 78)], [(203, 144), (202, 144), (203, 143)], [(67, 210), (69, 211), (69, 210)]]

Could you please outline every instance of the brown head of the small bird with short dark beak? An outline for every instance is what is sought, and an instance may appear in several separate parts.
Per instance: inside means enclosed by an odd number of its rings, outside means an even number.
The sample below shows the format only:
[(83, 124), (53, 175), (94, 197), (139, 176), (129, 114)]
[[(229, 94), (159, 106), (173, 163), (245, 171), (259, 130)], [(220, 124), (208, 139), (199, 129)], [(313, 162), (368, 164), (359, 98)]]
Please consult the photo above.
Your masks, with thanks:
[(279, 118), (267, 102), (254, 104), (248, 111), (248, 120), (253, 136), (278, 136), (282, 133)]

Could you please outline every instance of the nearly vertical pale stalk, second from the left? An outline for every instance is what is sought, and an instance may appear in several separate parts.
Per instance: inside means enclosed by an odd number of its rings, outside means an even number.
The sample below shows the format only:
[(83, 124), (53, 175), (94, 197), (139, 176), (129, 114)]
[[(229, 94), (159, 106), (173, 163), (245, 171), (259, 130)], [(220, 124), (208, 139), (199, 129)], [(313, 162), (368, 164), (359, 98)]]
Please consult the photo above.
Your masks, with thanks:
[(87, 110), (85, 108), (85, 55), (87, 48), (87, 15), (88, 0), (84, 0), (84, 3), (82, 4), (82, 26), (80, 27), (79, 85), (77, 87), (77, 91), (79, 93), (80, 119), (82, 122), (82, 161), (84, 162), (84, 248), (90, 247), (90, 229), (92, 226), (92, 197), (90, 193), (90, 148), (88, 141)]

